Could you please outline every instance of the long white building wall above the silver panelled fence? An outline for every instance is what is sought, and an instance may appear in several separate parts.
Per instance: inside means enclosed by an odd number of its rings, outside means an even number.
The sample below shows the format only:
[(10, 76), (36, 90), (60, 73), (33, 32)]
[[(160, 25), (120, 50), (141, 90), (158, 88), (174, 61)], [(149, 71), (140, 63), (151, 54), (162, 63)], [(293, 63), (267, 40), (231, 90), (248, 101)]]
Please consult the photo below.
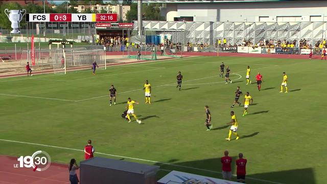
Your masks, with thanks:
[[(327, 1), (167, 4), (167, 21), (192, 16), (194, 21), (317, 21), (327, 15)], [(172, 13), (177, 11), (176, 13)], [(263, 18), (265, 19), (265, 18)], [(263, 21), (263, 19), (261, 21)], [(310, 20), (312, 19), (312, 20)], [(327, 20), (327, 19), (325, 19)]]

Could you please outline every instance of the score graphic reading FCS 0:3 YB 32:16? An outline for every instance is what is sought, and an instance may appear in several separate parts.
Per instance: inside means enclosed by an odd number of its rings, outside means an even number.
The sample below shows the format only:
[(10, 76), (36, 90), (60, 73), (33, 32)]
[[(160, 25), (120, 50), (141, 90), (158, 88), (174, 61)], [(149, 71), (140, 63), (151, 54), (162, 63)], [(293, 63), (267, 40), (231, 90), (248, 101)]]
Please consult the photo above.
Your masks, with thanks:
[(27, 13), (27, 22), (116, 22), (116, 13)]

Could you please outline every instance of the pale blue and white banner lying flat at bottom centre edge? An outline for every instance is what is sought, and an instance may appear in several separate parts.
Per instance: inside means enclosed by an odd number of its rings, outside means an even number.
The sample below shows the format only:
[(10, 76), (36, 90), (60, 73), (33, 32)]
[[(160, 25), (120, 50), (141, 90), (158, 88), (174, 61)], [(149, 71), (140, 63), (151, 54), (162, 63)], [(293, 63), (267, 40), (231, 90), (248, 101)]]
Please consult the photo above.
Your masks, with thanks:
[(197, 184), (237, 184), (238, 182), (206, 177), (196, 174), (172, 171), (159, 181), (158, 184), (179, 184), (179, 183), (197, 183)]

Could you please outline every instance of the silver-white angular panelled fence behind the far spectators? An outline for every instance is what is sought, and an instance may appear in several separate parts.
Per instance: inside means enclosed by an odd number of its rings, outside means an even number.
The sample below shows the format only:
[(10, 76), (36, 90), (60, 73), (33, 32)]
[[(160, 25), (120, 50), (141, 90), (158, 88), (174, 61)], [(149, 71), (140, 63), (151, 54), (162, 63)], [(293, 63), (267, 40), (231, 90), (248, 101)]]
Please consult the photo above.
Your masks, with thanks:
[[(314, 45), (326, 37), (326, 22), (193, 22), (193, 21), (143, 21), (143, 29), (156, 35), (171, 36), (172, 42), (207, 43), (214, 45), (218, 39), (228, 44), (241, 44), (246, 39), (259, 43), (263, 40), (293, 41), (306, 39)], [(137, 21), (134, 21), (137, 30)], [(298, 47), (298, 45), (296, 45)]]

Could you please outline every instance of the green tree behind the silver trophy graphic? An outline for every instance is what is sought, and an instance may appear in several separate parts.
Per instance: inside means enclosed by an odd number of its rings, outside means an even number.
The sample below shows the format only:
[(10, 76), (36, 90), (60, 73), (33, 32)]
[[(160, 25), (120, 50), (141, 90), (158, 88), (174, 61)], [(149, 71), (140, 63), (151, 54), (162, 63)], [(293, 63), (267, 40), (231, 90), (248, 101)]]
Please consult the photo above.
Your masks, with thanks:
[[(11, 29), (11, 21), (5, 14), (5, 9), (8, 10), (21, 10), (21, 6), (18, 3), (4, 3), (0, 7), (0, 27), (4, 29)], [(25, 25), (25, 17), (22, 18), (20, 26)]]

